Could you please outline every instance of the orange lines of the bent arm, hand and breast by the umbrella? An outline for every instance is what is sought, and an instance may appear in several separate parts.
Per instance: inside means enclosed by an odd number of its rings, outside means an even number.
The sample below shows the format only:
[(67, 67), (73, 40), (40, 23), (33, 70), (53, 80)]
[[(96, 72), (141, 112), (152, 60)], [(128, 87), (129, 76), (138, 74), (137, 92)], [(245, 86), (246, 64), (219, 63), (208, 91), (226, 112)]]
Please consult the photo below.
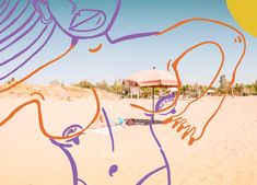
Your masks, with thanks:
[[(153, 112), (153, 111), (147, 109), (145, 107), (142, 107), (142, 106), (140, 106), (140, 105), (130, 104), (132, 107), (142, 109), (142, 111), (144, 111), (144, 112), (152, 113), (152, 114), (162, 113), (162, 112), (164, 112), (164, 111), (167, 111), (167, 109), (174, 107), (174, 105), (176, 105), (176, 103), (177, 103), (177, 101), (178, 101), (178, 97), (179, 97), (179, 94), (180, 94), (180, 88), (182, 88), (182, 81), (180, 81), (180, 78), (179, 78), (179, 74), (178, 74), (178, 70), (177, 70), (177, 66), (178, 66), (179, 61), (180, 61), (180, 60), (183, 59), (183, 57), (184, 57), (185, 55), (187, 55), (190, 50), (192, 50), (192, 49), (195, 49), (195, 48), (197, 48), (197, 47), (199, 47), (199, 46), (201, 46), (201, 45), (205, 45), (205, 44), (213, 44), (213, 45), (215, 45), (215, 46), (220, 49), (220, 51), (221, 51), (222, 61), (221, 61), (221, 65), (220, 65), (218, 71), (217, 71), (214, 78), (213, 78), (212, 81), (210, 82), (208, 89), (207, 89), (205, 92), (202, 92), (202, 94), (201, 94), (199, 97), (197, 97), (196, 100), (189, 102), (189, 103), (187, 104), (187, 106), (186, 106), (179, 114), (173, 115), (173, 116), (166, 118), (165, 120), (163, 120), (163, 124), (168, 124), (168, 123), (171, 123), (171, 122), (174, 122), (173, 128), (175, 128), (177, 125), (179, 125), (179, 127), (177, 128), (177, 132), (179, 132), (182, 129), (185, 129), (185, 128), (186, 128), (187, 130), (186, 130), (185, 134), (183, 135), (182, 139), (184, 139), (189, 132), (192, 131), (191, 135), (190, 135), (190, 140), (189, 140), (188, 144), (192, 144), (194, 141), (197, 141), (197, 140), (199, 140), (199, 139), (202, 138), (202, 136), (203, 136), (203, 134), (205, 134), (205, 131), (206, 131), (207, 126), (209, 125), (209, 123), (211, 122), (211, 119), (217, 115), (217, 113), (218, 113), (219, 109), (221, 108), (221, 106), (222, 106), (222, 104), (223, 104), (223, 102), (224, 102), (224, 100), (225, 100), (225, 97), (226, 97), (227, 91), (230, 90), (230, 88), (233, 85), (233, 83), (234, 83), (234, 81), (235, 81), (236, 70), (237, 70), (240, 63), (242, 62), (242, 60), (243, 60), (243, 58), (244, 58), (244, 56), (245, 56), (245, 51), (246, 51), (246, 39), (245, 39), (245, 36), (242, 34), (242, 32), (240, 32), (237, 28), (235, 28), (235, 27), (233, 27), (233, 26), (231, 26), (231, 25), (229, 25), (229, 24), (226, 24), (226, 23), (223, 23), (223, 22), (220, 22), (220, 21), (215, 21), (215, 20), (201, 19), (201, 18), (192, 18), (192, 19), (184, 20), (184, 21), (178, 22), (178, 23), (174, 24), (173, 26), (171, 26), (171, 27), (168, 27), (168, 28), (166, 28), (166, 30), (160, 32), (160, 33), (157, 34), (157, 36), (159, 36), (159, 35), (162, 35), (162, 34), (165, 34), (166, 32), (170, 32), (170, 31), (172, 31), (172, 30), (174, 30), (174, 28), (176, 28), (176, 27), (178, 27), (178, 26), (180, 26), (180, 25), (184, 25), (184, 24), (187, 24), (187, 23), (190, 23), (190, 22), (194, 22), (194, 21), (201, 21), (201, 22), (208, 22), (208, 23), (215, 23), (215, 24), (218, 24), (218, 25), (222, 25), (222, 26), (229, 27), (229, 28), (235, 31), (235, 32), (240, 35), (240, 36), (237, 36), (238, 43), (243, 43), (243, 51), (242, 51), (242, 55), (241, 55), (238, 61), (236, 62), (236, 66), (234, 67), (233, 74), (232, 74), (232, 79), (231, 79), (230, 84), (229, 84), (229, 86), (227, 86), (227, 89), (226, 89), (226, 91), (225, 91), (225, 94), (223, 95), (223, 97), (222, 97), (220, 104), (218, 105), (217, 109), (213, 112), (213, 114), (212, 114), (212, 115), (209, 117), (209, 119), (206, 122), (206, 124), (205, 124), (205, 126), (203, 126), (203, 128), (202, 128), (202, 130), (201, 130), (200, 136), (197, 137), (197, 138), (194, 138), (192, 136), (194, 136), (194, 134), (195, 134), (195, 131), (196, 131), (196, 127), (190, 127), (190, 125), (186, 125), (186, 126), (185, 126), (185, 124), (187, 123), (187, 119), (184, 119), (184, 118), (178, 117), (178, 116), (180, 116), (183, 113), (185, 113), (191, 103), (194, 103), (194, 102), (198, 101), (199, 99), (201, 99), (201, 97), (206, 94), (206, 92), (212, 86), (212, 84), (214, 83), (214, 81), (217, 80), (217, 78), (218, 78), (218, 76), (219, 76), (219, 73), (220, 73), (220, 71), (221, 71), (221, 68), (222, 68), (222, 66), (223, 66), (223, 63), (224, 63), (225, 56), (224, 56), (224, 51), (223, 51), (222, 47), (221, 47), (218, 43), (215, 43), (215, 42), (202, 42), (202, 43), (200, 43), (200, 44), (197, 44), (197, 45), (190, 47), (189, 49), (187, 49), (186, 51), (184, 51), (184, 53), (172, 63), (172, 68), (173, 68), (173, 70), (174, 70), (174, 72), (175, 72), (175, 76), (176, 76), (176, 79), (177, 79), (177, 82), (178, 82), (178, 92), (177, 92), (177, 96), (175, 97), (174, 102), (173, 102), (171, 105), (168, 105), (167, 107), (165, 107), (165, 108), (163, 108), (163, 109), (161, 109), (161, 111)], [(236, 41), (236, 38), (235, 38), (235, 41)], [(170, 66), (171, 66), (171, 60), (170, 60), (170, 61), (167, 62), (167, 65), (166, 65), (166, 68), (167, 68), (168, 71), (170, 71)], [(175, 118), (175, 117), (178, 117), (178, 118)]]

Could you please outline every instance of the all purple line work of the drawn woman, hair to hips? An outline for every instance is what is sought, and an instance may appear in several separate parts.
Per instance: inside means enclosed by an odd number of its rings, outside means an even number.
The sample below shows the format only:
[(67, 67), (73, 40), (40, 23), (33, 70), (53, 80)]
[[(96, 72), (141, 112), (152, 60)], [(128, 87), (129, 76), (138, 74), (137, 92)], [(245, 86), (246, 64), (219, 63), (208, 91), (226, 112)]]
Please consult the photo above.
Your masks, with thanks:
[[(73, 0), (63, 0), (65, 7), (60, 9), (59, 4), (57, 4), (55, 0), (27, 0), (25, 8), (20, 12), (20, 14), (16, 18), (12, 18), (14, 11), (16, 10), (17, 5), (21, 4), (20, 2), (23, 2), (21, 0), (16, 0), (15, 4), (10, 8), (11, 0), (4, 0), (0, 3), (0, 34), (5, 33), (12, 27), (13, 25), (17, 24), (17, 20), (20, 20), (25, 13), (27, 13), (27, 5), (32, 4), (34, 11), (33, 13), (30, 13), (30, 16), (25, 20), (25, 22), (21, 23), (21, 25), (12, 31), (10, 34), (7, 36), (1, 36), (0, 35), (0, 51), (4, 56), (4, 50), (8, 49), (9, 47), (13, 46), (17, 41), (21, 41), (25, 35), (30, 34), (33, 32), (33, 28), (36, 25), (42, 26), (42, 32), (36, 36), (36, 38), (31, 38), (33, 42), (28, 41), (27, 46), (24, 47), (22, 50), (17, 50), (16, 54), (14, 54), (11, 58), (4, 59), (3, 61), (0, 61), (0, 68), (3, 68), (7, 63), (12, 62), (14, 59), (19, 59), (22, 55), (28, 53), (28, 50), (37, 43), (39, 42), (39, 38), (42, 38), (45, 34), (47, 34), (47, 38), (40, 44), (39, 47), (34, 48), (35, 50), (32, 51), (32, 54), (26, 58), (25, 60), (21, 60), (20, 63), (9, 71), (7, 74), (0, 74), (0, 81), (7, 79), (17, 70), (20, 70), (22, 67), (24, 67), (28, 61), (33, 59), (35, 55), (37, 55), (44, 47), (45, 45), (50, 41), (52, 34), (55, 33), (56, 28), (59, 28), (70, 39), (71, 39), (71, 45), (75, 46), (80, 39), (91, 39), (100, 36), (105, 36), (106, 39), (110, 44), (117, 44), (120, 42), (129, 41), (129, 39), (136, 39), (136, 38), (141, 38), (141, 37), (149, 37), (149, 36), (154, 36), (159, 32), (144, 32), (144, 33), (136, 33), (136, 34), (130, 34), (130, 35), (125, 35), (118, 38), (113, 38), (109, 35), (109, 31), (112, 30), (119, 10), (120, 10), (120, 4), (121, 0), (113, 0), (110, 1), (112, 3), (110, 7), (113, 8), (113, 11), (110, 13), (107, 13), (107, 11), (102, 10), (104, 7), (101, 7), (97, 9), (95, 4), (93, 5), (87, 2), (83, 1), (73, 1)], [(67, 11), (68, 18), (67, 20), (62, 19), (62, 11)], [(12, 19), (12, 20), (11, 20)], [(10, 23), (5, 26), (1, 25), (5, 23), (7, 21), (10, 21)], [(49, 33), (48, 33), (49, 31)], [(20, 34), (20, 35), (19, 35)], [(1, 44), (8, 42), (9, 39), (14, 38), (10, 44), (7, 46), (1, 46)], [(237, 68), (237, 67), (236, 67)], [(170, 96), (170, 100), (173, 100), (174, 96)], [(167, 101), (166, 97), (161, 99), (156, 105), (155, 105), (155, 111), (159, 111), (162, 108), (162, 103), (163, 101)], [(107, 118), (107, 114), (105, 113), (105, 109), (102, 109), (105, 114), (106, 123), (109, 129), (109, 136), (112, 140), (112, 151), (115, 151), (115, 144), (114, 144), (114, 137), (112, 132), (112, 128)], [(162, 115), (167, 115), (167, 114), (175, 114), (176, 111), (172, 109), (165, 114)], [(161, 170), (166, 170), (167, 174), (167, 184), (171, 185), (172, 180), (171, 180), (171, 169), (170, 169), (170, 163), (167, 161), (166, 154), (162, 148), (161, 142), (157, 139), (157, 136), (155, 135), (154, 128), (153, 128), (153, 117), (154, 114), (145, 114), (147, 116), (151, 117), (149, 127), (151, 135), (156, 142), (160, 153), (163, 158), (164, 165), (160, 166), (150, 173), (145, 174), (139, 182), (137, 183), (138, 185), (143, 184), (149, 177), (151, 177), (153, 174), (160, 172)], [(70, 135), (71, 132), (74, 132), (78, 129), (82, 129), (80, 125), (72, 125), (69, 126), (67, 129), (63, 131), (63, 136)], [(79, 137), (75, 137), (73, 139), (67, 140), (67, 143), (61, 143), (56, 140), (50, 139), (50, 141), (59, 147), (67, 158), (70, 161), (70, 165), (72, 169), (72, 175), (73, 175), (73, 185), (78, 185), (78, 183), (82, 183), (85, 185), (85, 182), (79, 178), (78, 176), (78, 169), (75, 161), (71, 153), (69, 152), (69, 148), (73, 147), (73, 144), (80, 144), (80, 139)], [(115, 172), (117, 172), (118, 165), (114, 164), (109, 167), (109, 175), (113, 176)]]

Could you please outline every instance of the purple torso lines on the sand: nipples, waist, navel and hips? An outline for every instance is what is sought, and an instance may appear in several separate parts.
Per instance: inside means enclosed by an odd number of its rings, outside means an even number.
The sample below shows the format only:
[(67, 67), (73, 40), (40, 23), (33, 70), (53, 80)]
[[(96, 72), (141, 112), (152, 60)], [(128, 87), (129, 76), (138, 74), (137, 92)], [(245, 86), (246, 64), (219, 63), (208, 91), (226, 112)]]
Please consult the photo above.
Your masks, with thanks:
[[(155, 104), (155, 111), (160, 111), (162, 108), (162, 106), (164, 106), (165, 103), (170, 103), (173, 100), (174, 100), (174, 94), (170, 94), (170, 95), (166, 95), (166, 96), (160, 99), (156, 102), (156, 104)], [(106, 120), (106, 126), (108, 128), (108, 134), (109, 134), (110, 141), (112, 141), (112, 151), (114, 152), (115, 151), (115, 141), (114, 141), (114, 136), (113, 136), (112, 127), (110, 127), (110, 124), (109, 124), (109, 119), (108, 119), (107, 113), (106, 113), (104, 107), (102, 107), (102, 112), (104, 114), (104, 117), (105, 117), (105, 120)], [(168, 114), (173, 114), (173, 113), (168, 112)], [(151, 135), (152, 135), (154, 141), (156, 142), (156, 144), (157, 144), (157, 147), (160, 149), (160, 153), (161, 153), (161, 155), (163, 158), (164, 165), (160, 166), (160, 167), (157, 167), (157, 169), (155, 169), (155, 170), (153, 170), (151, 172), (149, 172), (142, 178), (140, 178), (139, 182), (136, 183), (136, 184), (137, 185), (142, 185), (153, 174), (155, 174), (155, 173), (157, 173), (157, 172), (160, 172), (162, 170), (166, 170), (167, 185), (171, 185), (172, 184), (172, 180), (171, 180), (170, 163), (168, 163), (166, 154), (165, 154), (165, 152), (164, 152), (164, 150), (162, 148), (162, 144), (159, 141), (157, 136), (155, 135), (155, 131), (153, 129), (153, 115), (152, 114), (145, 114), (145, 115), (151, 117), (150, 122), (149, 122), (149, 128), (150, 128), (150, 131), (151, 131)], [(83, 127), (80, 126), (80, 125), (71, 125), (71, 126), (67, 127), (62, 131), (62, 136), (69, 136), (71, 134), (73, 134), (73, 132), (77, 132), (79, 129), (81, 130), (81, 129), (83, 129)], [(68, 140), (66, 140), (66, 143), (56, 141), (54, 139), (50, 139), (50, 141), (55, 146), (59, 147), (61, 149), (61, 151), (67, 155), (67, 158), (68, 158), (68, 160), (70, 162), (70, 165), (71, 165), (73, 185), (78, 185), (79, 182), (81, 182), (83, 185), (86, 185), (86, 183), (83, 180), (79, 178), (75, 160), (73, 159), (72, 154), (69, 151), (69, 148), (72, 148), (74, 144), (77, 144), (77, 146), (80, 144), (80, 138), (79, 137), (74, 137), (72, 139), (68, 139)], [(117, 164), (110, 165), (109, 171), (108, 171), (109, 176), (113, 177), (114, 173), (116, 173), (117, 171), (118, 171), (118, 165)]]

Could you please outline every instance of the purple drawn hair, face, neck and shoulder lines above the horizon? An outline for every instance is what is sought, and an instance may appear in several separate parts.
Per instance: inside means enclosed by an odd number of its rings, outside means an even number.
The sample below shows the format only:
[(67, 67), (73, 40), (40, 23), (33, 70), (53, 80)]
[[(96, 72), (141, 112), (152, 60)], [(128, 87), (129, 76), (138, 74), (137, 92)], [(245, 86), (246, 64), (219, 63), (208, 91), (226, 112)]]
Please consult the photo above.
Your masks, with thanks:
[[(140, 38), (140, 37), (148, 37), (152, 35), (156, 35), (159, 32), (145, 32), (145, 33), (137, 33), (137, 34), (131, 34), (131, 35), (126, 35), (121, 36), (119, 38), (112, 38), (108, 34), (108, 32), (112, 30), (112, 26), (114, 25), (119, 10), (120, 10), (120, 3), (121, 0), (113, 0), (112, 5), (113, 5), (113, 11), (110, 13), (106, 13), (104, 9), (105, 7), (101, 7), (100, 9), (95, 9), (95, 4), (91, 5), (92, 8), (89, 8), (89, 4), (84, 2), (84, 4), (81, 5), (78, 4), (78, 2), (74, 2), (72, 0), (66, 0), (68, 3), (67, 5), (63, 7), (63, 10), (70, 13), (70, 16), (68, 20), (62, 19), (62, 9), (59, 9), (59, 4), (57, 4), (56, 1), (49, 1), (49, 0), (27, 0), (25, 8), (20, 12), (20, 14), (11, 20), (11, 23), (9, 23), (7, 26), (1, 27), (0, 26), (0, 33), (9, 31), (9, 28), (14, 25), (19, 19), (21, 19), (25, 13), (28, 3), (33, 5), (34, 12), (31, 14), (31, 16), (15, 31), (11, 32), (9, 35), (1, 37), (0, 36), (0, 46), (2, 43), (9, 41), (10, 38), (13, 38), (16, 34), (20, 32), (24, 31), (26, 26), (33, 21), (34, 16), (39, 16), (40, 22), (37, 22), (36, 24), (32, 24), (23, 34), (21, 34), (19, 37), (16, 37), (11, 44), (2, 47), (0, 51), (4, 51), (7, 48), (10, 46), (13, 46), (17, 41), (21, 41), (23, 36), (30, 34), (33, 32), (33, 28), (38, 25), (39, 23), (44, 28), (52, 28), (51, 32), (49, 33), (47, 39), (43, 45), (40, 45), (36, 51), (34, 51), (27, 59), (24, 61), (20, 61), (20, 65), (17, 65), (13, 70), (9, 71), (7, 74), (1, 74), (0, 76), (0, 81), (3, 79), (7, 79), (11, 74), (13, 74), (15, 71), (20, 70), (25, 63), (31, 61), (33, 57), (38, 54), (45, 45), (49, 42), (50, 37), (55, 33), (55, 28), (58, 27), (67, 36), (71, 38), (71, 45), (75, 46), (80, 39), (90, 39), (90, 38), (95, 38), (100, 36), (105, 36), (107, 41), (110, 44), (116, 44), (119, 42), (125, 42), (129, 39), (135, 39), (135, 38)], [(15, 5), (11, 9), (11, 11), (8, 13), (4, 20), (2, 20), (2, 23), (11, 19), (11, 15), (13, 14), (14, 10), (19, 5), (21, 1), (17, 0)], [(56, 5), (57, 4), (57, 5)], [(1, 7), (3, 7), (3, 10), (0, 13), (1, 14), (5, 13), (8, 11), (8, 8), (10, 5), (10, 0), (4, 0), (1, 3)], [(1, 22), (0, 22), (1, 24)], [(9, 59), (5, 59), (4, 61), (0, 62), (0, 67), (13, 61), (14, 59), (19, 59), (22, 55), (26, 54), (28, 49), (33, 46), (33, 44), (36, 44), (39, 38), (44, 34), (39, 34), (34, 42), (28, 45), (27, 47), (24, 47), (21, 51), (17, 54), (14, 54), (12, 57)]]

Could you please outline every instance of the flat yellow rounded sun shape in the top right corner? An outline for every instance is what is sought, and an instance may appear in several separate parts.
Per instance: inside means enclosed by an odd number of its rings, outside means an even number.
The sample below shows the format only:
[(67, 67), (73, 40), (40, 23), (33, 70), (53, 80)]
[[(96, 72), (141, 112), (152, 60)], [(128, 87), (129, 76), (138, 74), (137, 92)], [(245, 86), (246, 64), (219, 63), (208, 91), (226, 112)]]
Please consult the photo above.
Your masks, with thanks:
[(240, 26), (257, 36), (257, 0), (226, 0), (226, 4)]

